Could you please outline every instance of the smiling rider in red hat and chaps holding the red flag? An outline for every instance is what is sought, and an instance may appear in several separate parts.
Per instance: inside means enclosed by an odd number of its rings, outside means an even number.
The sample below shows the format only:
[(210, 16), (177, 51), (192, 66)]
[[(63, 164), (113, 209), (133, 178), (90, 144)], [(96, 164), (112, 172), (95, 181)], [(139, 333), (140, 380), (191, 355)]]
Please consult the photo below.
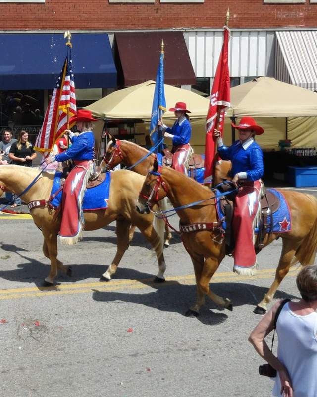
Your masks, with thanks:
[(230, 147), (224, 146), (220, 133), (214, 130), (218, 140), (218, 153), (222, 160), (230, 160), (232, 181), (239, 183), (240, 189), (234, 201), (233, 231), (235, 249), (233, 251), (234, 269), (247, 273), (246, 268), (257, 266), (254, 250), (254, 226), (261, 211), (260, 199), (263, 176), (263, 153), (255, 142), (255, 135), (263, 134), (252, 117), (242, 117), (240, 123), (232, 126), (239, 132), (239, 140)]

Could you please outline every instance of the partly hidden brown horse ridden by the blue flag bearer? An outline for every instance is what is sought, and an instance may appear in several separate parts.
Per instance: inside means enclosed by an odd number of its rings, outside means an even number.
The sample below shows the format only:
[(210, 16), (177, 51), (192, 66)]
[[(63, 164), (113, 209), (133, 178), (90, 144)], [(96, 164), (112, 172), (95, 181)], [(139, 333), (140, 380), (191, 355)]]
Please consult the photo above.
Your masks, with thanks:
[[(108, 134), (110, 141), (106, 147), (106, 154), (104, 157), (104, 163), (106, 164), (106, 168), (108, 170), (112, 170), (120, 163), (124, 163), (126, 166), (131, 167), (133, 164), (136, 164), (140, 159), (145, 157), (149, 150), (141, 147), (133, 142), (127, 140), (119, 140), (114, 136)], [(132, 168), (133, 171), (137, 172), (141, 175), (147, 175), (151, 167), (153, 167), (153, 163), (156, 160), (156, 156), (154, 153), (150, 154), (143, 161), (137, 164)], [(222, 182), (223, 179), (228, 178), (228, 172), (231, 168), (230, 161), (219, 161), (216, 164), (215, 170), (215, 184)], [(134, 227), (132, 226), (130, 229), (130, 240), (133, 237)], [(169, 246), (169, 241), (172, 238), (172, 235), (169, 231), (168, 225), (165, 225), (165, 240), (164, 246)]]

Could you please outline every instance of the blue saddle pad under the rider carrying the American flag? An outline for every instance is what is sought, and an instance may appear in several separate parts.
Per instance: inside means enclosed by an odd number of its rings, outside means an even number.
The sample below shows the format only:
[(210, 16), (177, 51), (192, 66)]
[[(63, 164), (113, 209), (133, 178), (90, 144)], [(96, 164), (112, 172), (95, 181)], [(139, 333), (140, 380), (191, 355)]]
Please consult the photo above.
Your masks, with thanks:
[[(61, 172), (56, 172), (54, 176), (51, 196), (60, 189), (60, 179), (62, 178)], [(109, 193), (110, 193), (110, 182), (111, 182), (111, 172), (106, 173), (105, 180), (93, 188), (87, 189), (84, 201), (83, 201), (83, 211), (94, 211), (98, 209), (106, 209), (108, 207)], [(61, 199), (62, 191), (60, 191), (57, 196), (51, 201), (53, 207), (58, 208)]]

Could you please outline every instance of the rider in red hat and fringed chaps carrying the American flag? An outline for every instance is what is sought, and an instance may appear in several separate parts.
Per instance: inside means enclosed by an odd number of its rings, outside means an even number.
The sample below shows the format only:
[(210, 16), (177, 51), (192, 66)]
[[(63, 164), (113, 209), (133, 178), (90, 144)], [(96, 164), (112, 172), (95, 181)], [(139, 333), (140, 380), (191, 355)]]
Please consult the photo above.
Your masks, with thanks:
[(63, 188), (62, 220), (59, 237), (64, 244), (75, 244), (82, 237), (83, 211), (82, 201), (86, 191), (88, 179), (93, 170), (95, 137), (93, 121), (90, 110), (80, 109), (76, 116), (70, 119), (70, 124), (75, 122), (80, 132), (76, 136), (70, 130), (65, 130), (71, 138), (72, 145), (63, 153), (48, 157), (47, 164), (53, 161), (73, 160), (75, 166), (67, 176)]

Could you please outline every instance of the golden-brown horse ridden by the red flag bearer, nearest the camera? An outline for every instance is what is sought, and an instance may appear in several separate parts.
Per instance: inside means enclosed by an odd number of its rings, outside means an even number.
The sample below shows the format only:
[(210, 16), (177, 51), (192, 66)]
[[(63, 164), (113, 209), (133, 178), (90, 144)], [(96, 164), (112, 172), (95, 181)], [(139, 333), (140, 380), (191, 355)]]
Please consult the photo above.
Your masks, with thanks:
[[(155, 174), (149, 172), (140, 192), (137, 208), (141, 213), (148, 210), (147, 204), (149, 201), (151, 205), (157, 199), (162, 199), (165, 196), (170, 199), (174, 208), (206, 199), (199, 205), (177, 211), (183, 226), (208, 222), (210, 229), (182, 234), (183, 244), (194, 265), (197, 284), (196, 303), (187, 311), (186, 315), (198, 315), (200, 307), (204, 304), (205, 295), (208, 295), (215, 303), (232, 310), (231, 301), (211, 292), (209, 286), (211, 277), (225, 256), (225, 243), (222, 242), (223, 239), (219, 238), (217, 229), (218, 219), (214, 199), (208, 200), (214, 196), (213, 193), (205, 186), (177, 171), (166, 167), (158, 167), (157, 162), (154, 163), (153, 170)], [(290, 208), (292, 230), (287, 233), (270, 233), (264, 239), (263, 243), (266, 246), (281, 237), (283, 247), (275, 273), (275, 280), (255, 309), (255, 313), (259, 314), (265, 313), (267, 304), (273, 299), (280, 282), (288, 273), (291, 265), (297, 262), (302, 265), (309, 265), (315, 259), (317, 199), (311, 195), (294, 191), (283, 191), (283, 194)], [(149, 197), (151, 197), (150, 200)]]

